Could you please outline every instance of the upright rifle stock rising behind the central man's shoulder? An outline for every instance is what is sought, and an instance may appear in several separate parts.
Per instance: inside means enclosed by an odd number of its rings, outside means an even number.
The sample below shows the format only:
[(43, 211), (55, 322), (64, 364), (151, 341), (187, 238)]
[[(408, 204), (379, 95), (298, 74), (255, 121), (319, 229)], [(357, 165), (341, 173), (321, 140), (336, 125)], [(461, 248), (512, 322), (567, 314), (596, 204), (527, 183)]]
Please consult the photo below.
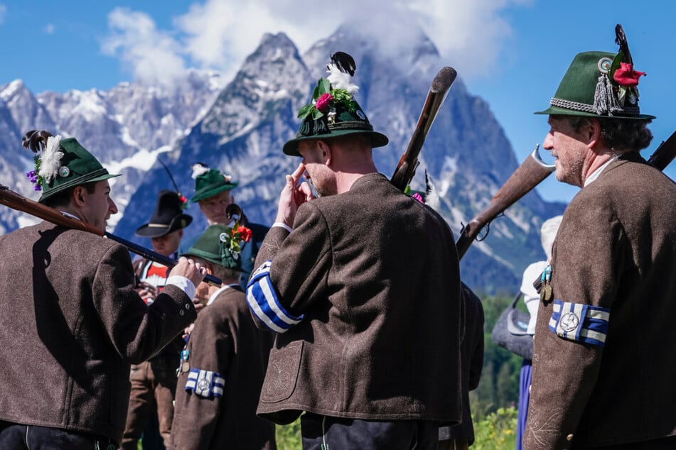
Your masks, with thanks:
[(415, 175), (415, 170), (418, 167), (418, 155), (422, 149), (422, 144), (427, 137), (427, 132), (431, 128), (432, 123), (434, 123), (434, 118), (436, 113), (439, 111), (439, 106), (444, 103), (446, 99), (446, 94), (449, 93), (451, 89), (451, 84), (456, 79), (458, 73), (453, 67), (444, 67), (439, 70), (439, 73), (436, 74), (436, 77), (432, 80), (431, 87), (427, 93), (427, 98), (425, 99), (425, 104), (422, 106), (422, 111), (420, 117), (418, 118), (418, 123), (413, 131), (413, 136), (411, 136), (411, 141), (409, 146), (402, 155), (402, 158), (399, 159), (399, 164), (395, 169), (395, 173), (392, 174), (392, 185), (395, 185), (399, 190), (404, 190), (409, 185), (411, 180)]

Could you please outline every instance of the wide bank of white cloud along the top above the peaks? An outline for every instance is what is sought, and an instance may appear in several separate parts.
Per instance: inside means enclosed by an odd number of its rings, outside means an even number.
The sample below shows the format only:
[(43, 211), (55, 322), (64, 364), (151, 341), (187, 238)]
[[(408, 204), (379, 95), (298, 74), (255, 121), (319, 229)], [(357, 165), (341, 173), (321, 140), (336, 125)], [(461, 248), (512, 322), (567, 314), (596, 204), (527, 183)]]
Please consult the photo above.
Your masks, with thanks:
[[(468, 79), (495, 72), (498, 55), (512, 33), (502, 14), (532, 1), (341, 0), (340, 8), (327, 11), (307, 0), (205, 0), (174, 18), (176, 29), (171, 34), (158, 31), (145, 13), (116, 9), (109, 16), (114, 34), (105, 48), (134, 67), (138, 77), (173, 73), (184, 67), (184, 61), (234, 75), (264, 33), (282, 31), (303, 52), (342, 23), (358, 24), (386, 49), (410, 43), (422, 28), (449, 64)], [(150, 56), (145, 51), (149, 49)], [(158, 52), (171, 70), (159, 70)]]

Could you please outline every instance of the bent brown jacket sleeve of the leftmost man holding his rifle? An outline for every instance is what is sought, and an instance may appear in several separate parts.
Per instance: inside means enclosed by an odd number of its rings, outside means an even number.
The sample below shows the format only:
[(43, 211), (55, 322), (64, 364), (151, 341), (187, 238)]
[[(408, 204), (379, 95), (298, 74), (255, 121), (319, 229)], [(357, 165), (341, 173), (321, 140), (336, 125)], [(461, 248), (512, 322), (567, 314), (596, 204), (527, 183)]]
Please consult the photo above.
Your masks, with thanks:
[(193, 302), (180, 288), (166, 286), (149, 307), (134, 285), (127, 249), (111, 246), (92, 280), (92, 300), (112, 345), (132, 364), (159, 352), (197, 317)]

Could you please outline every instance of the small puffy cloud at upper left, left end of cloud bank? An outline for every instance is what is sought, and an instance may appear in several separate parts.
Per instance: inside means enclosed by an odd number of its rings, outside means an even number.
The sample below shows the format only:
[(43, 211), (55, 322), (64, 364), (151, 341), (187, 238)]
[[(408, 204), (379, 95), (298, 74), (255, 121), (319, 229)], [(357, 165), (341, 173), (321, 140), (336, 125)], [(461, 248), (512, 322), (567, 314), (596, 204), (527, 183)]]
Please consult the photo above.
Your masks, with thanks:
[(111, 34), (102, 43), (103, 53), (119, 57), (136, 79), (169, 84), (185, 75), (181, 45), (169, 33), (157, 30), (146, 13), (114, 9), (108, 26)]

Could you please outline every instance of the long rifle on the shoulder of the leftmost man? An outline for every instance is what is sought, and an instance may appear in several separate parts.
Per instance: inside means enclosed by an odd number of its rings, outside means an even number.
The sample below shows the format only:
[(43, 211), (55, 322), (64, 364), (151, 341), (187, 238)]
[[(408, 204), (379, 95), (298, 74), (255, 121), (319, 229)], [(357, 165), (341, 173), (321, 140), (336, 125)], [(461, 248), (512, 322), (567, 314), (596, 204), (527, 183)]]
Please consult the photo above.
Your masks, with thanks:
[[(107, 231), (97, 229), (97, 227), (87, 224), (84, 221), (73, 219), (72, 217), (64, 216), (57, 209), (50, 208), (44, 204), (38, 202), (33, 202), (31, 199), (27, 199), (22, 195), (17, 194), (6, 187), (0, 184), (0, 203), (4, 204), (6, 207), (11, 209), (16, 209), (17, 211), (26, 212), (31, 214), (31, 216), (39, 217), (40, 219), (46, 220), (56, 225), (65, 226), (67, 228), (77, 229), (81, 231), (87, 231), (88, 233), (97, 234), (99, 236), (104, 236), (106, 238), (112, 239), (117, 243), (121, 243), (123, 246), (127, 247), (129, 251), (136, 253), (136, 255), (143, 256), (146, 259), (153, 260), (156, 263), (166, 265), (168, 268), (173, 268), (176, 265), (177, 261), (171, 258), (168, 258), (164, 255), (156, 253), (149, 248), (139, 246), (136, 243), (127, 241), (126, 239), (119, 238), (114, 234), (110, 234)], [(213, 275), (204, 275), (205, 282), (208, 282), (215, 286), (221, 285), (221, 280), (216, 278)]]

